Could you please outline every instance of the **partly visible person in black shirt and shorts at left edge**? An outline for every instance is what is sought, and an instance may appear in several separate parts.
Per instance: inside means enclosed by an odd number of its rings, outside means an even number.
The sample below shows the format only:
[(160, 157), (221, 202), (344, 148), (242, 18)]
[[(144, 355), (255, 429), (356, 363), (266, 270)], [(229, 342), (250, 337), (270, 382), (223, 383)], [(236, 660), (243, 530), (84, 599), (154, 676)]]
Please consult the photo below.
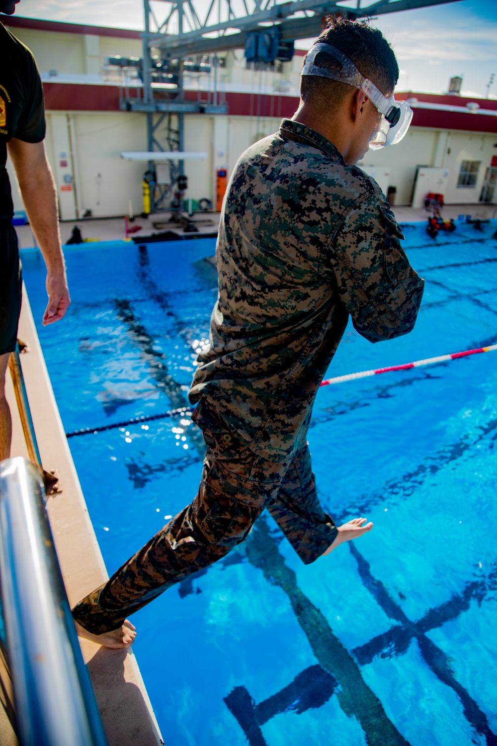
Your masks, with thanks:
[[(0, 0), (0, 13), (11, 15), (17, 2)], [(28, 47), (0, 23), (0, 460), (10, 455), (10, 410), (4, 384), (9, 356), (16, 348), (22, 295), (12, 194), (5, 168), (7, 151), (47, 266), (48, 304), (43, 325), (62, 319), (71, 302), (44, 138), (45, 108), (37, 63)]]

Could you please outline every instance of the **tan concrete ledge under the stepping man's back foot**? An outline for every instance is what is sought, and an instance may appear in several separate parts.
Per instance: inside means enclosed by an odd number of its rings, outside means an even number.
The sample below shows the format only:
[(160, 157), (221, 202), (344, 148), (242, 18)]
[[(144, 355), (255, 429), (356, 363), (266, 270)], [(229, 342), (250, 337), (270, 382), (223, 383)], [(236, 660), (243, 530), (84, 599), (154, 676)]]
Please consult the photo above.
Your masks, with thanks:
[[(21, 355), (22, 372), (43, 468), (47, 471), (57, 469), (63, 487), (60, 495), (48, 498), (47, 510), (69, 603), (73, 606), (109, 576), (64, 434), (25, 288), (19, 339), (27, 342), (29, 348)], [(7, 376), (6, 395), (13, 420), (11, 455), (27, 458), (10, 376)], [(162, 744), (159, 726), (133, 652), (111, 651), (83, 639), (80, 639), (80, 645), (92, 677), (109, 745)]]

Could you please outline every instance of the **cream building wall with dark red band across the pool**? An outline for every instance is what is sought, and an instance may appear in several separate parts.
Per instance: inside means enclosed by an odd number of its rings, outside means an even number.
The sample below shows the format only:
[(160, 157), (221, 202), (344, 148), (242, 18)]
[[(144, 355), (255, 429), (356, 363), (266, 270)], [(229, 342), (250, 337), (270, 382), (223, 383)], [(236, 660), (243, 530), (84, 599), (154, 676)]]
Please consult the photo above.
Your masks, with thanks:
[[(133, 32), (71, 25), (53, 25), (53, 28), (56, 26), (57, 31), (52, 31), (52, 26), (41, 30), (16, 25), (11, 31), (34, 52), (42, 73), (48, 75), (49, 71), (56, 70), (53, 80), (60, 80), (59, 83), (48, 82), (45, 86), (47, 99), (51, 100), (54, 109), (47, 113), (45, 146), (57, 184), (60, 216), (73, 220), (83, 216), (86, 210), (91, 210), (95, 217), (118, 216), (126, 212), (130, 199), (134, 210), (139, 213), (142, 210), (142, 175), (147, 164), (122, 160), (120, 153), (147, 149), (145, 114), (112, 110), (118, 107), (118, 89), (106, 87), (101, 73), (107, 56), (141, 56), (142, 42), (139, 38), (126, 36)], [(117, 33), (123, 35), (115, 36)], [(218, 69), (221, 88), (224, 85), (227, 91), (239, 92), (227, 93), (227, 97), (238, 97), (229, 103), (229, 107), (232, 112), (244, 116), (234, 116), (233, 113), (227, 116), (188, 114), (185, 118), (185, 149), (207, 153), (204, 160), (185, 162), (189, 177), (187, 196), (195, 200), (208, 198), (213, 204), (216, 169), (227, 167), (230, 175), (246, 148), (277, 130), (280, 117), (272, 115), (282, 110), (282, 99), (285, 99), (287, 116), (297, 109), (302, 66), (301, 54), (296, 54), (281, 69), (277, 68), (280, 72), (276, 72), (277, 69), (247, 69), (241, 50), (222, 56), (224, 66)], [(63, 93), (64, 75), (69, 76), (66, 87), (71, 89), (70, 93)], [(70, 84), (71, 81), (74, 84)], [(61, 100), (51, 95), (53, 90), (60, 93)], [(95, 101), (89, 98), (91, 92)], [(435, 98), (437, 103), (443, 97)], [(452, 103), (464, 102), (461, 99)], [(78, 105), (81, 111), (75, 110)], [(55, 110), (58, 107), (60, 110)], [(87, 110), (94, 107), (100, 110)], [(104, 110), (106, 108), (110, 110)], [(418, 126), (411, 127), (399, 145), (369, 151), (359, 166), (381, 168), (383, 174), (386, 170), (390, 173), (389, 184), (397, 189), (396, 204), (411, 204), (418, 166), (449, 171), (447, 203), (477, 203), (487, 166), (497, 154), (497, 135), (451, 131), (446, 124), (450, 126), (452, 122), (452, 126), (458, 126), (456, 119), (463, 116), (468, 122), (475, 123), (475, 129), (485, 129), (487, 125), (491, 129), (495, 128), (494, 120), (488, 116), (480, 117), (485, 121), (477, 126), (477, 117), (473, 119), (470, 114), (445, 113), (443, 116), (451, 119), (447, 122), (434, 119), (437, 126), (428, 127), (424, 126), (427, 120), (423, 116), (428, 116), (426, 110), (415, 109), (414, 123), (418, 122)], [(429, 116), (434, 114), (429, 113)], [(440, 113), (437, 116), (440, 117)], [(471, 124), (466, 125), (464, 120), (463, 126)], [(165, 131), (158, 131), (156, 135), (159, 141), (165, 142)], [(457, 186), (463, 160), (481, 163), (475, 186)], [(22, 209), (15, 188), (13, 192), (16, 209)], [(165, 201), (167, 206), (168, 200)]]

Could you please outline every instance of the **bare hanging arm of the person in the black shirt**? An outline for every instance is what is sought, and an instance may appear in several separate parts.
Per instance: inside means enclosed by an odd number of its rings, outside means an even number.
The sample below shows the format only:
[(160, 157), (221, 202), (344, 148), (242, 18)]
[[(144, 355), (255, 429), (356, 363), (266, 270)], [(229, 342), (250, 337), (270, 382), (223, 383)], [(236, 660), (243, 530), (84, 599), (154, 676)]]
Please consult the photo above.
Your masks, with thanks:
[(7, 148), (31, 228), (47, 267), (48, 304), (43, 314), (46, 326), (62, 319), (71, 303), (60, 246), (54, 178), (43, 142), (24, 142), (13, 137)]

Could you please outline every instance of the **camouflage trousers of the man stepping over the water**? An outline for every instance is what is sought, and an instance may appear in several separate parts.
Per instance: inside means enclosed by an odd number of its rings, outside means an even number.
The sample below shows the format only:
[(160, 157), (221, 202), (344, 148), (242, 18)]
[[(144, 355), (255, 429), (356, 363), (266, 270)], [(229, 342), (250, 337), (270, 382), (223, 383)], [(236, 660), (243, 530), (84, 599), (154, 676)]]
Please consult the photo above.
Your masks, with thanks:
[(246, 539), (265, 508), (306, 564), (335, 539), (335, 524), (317, 498), (307, 445), (293, 460), (274, 463), (250, 451), (210, 407), (197, 410), (207, 446), (197, 497), (72, 609), (89, 632), (117, 629), (175, 583), (221, 560)]

